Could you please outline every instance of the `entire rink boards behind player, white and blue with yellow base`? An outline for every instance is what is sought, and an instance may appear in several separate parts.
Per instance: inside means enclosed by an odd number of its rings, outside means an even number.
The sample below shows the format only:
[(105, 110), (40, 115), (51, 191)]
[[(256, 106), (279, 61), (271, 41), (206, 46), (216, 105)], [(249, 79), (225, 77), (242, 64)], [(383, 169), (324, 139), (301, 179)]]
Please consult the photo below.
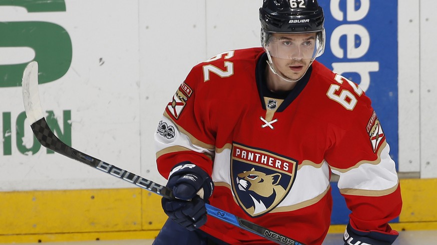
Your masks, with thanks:
[[(419, 30), (437, 24), (437, 1), (321, 4), (328, 35), (320, 61), (365, 88), (399, 172), (415, 177), (401, 179), (404, 205), (393, 227), (436, 228), (435, 33)], [(63, 141), (164, 184), (153, 133), (175, 89), (198, 62), (260, 43), (260, 2), (171, 5), (0, 0), (0, 210), (8, 210), (0, 211), (0, 241), (157, 233), (165, 220), (158, 196), (36, 142), (20, 86), (27, 62), (39, 61), (46, 118)], [(342, 232), (348, 210), (332, 186), (331, 231)]]

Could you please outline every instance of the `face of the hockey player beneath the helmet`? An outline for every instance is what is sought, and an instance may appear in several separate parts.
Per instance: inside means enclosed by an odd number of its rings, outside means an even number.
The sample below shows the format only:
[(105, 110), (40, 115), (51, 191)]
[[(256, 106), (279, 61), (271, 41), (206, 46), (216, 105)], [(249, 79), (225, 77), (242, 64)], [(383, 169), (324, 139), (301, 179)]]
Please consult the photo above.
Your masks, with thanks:
[(293, 80), (302, 77), (314, 56), (315, 41), (316, 33), (273, 33), (269, 51), (276, 71)]

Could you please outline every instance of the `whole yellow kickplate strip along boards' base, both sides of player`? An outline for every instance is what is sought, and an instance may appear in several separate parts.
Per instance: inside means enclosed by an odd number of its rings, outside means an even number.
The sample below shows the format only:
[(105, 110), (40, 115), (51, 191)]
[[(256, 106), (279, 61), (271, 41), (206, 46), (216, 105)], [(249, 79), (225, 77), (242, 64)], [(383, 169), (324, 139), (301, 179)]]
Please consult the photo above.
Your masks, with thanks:
[[(437, 180), (401, 179), (400, 184), (403, 209), (391, 226), (437, 229)], [(167, 217), (160, 196), (139, 188), (0, 192), (0, 200), (8, 200), (0, 202), (0, 210), (10, 210), (0, 212), (0, 242), (153, 238)], [(333, 224), (329, 232), (344, 228)]]

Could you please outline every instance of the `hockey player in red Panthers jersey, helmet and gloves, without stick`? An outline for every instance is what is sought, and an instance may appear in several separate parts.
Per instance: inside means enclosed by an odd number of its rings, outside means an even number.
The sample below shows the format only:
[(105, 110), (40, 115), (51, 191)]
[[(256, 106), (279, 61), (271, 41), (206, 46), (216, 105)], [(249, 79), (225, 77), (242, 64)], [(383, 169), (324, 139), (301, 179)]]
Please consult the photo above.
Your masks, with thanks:
[(325, 46), (316, 0), (263, 0), (262, 47), (192, 68), (155, 134), (157, 167), (176, 200), (155, 239), (272, 244), (206, 217), (205, 202), (305, 244), (322, 244), (330, 172), (351, 210), (344, 244), (391, 244), (399, 215), (395, 164), (363, 90), (314, 60)]

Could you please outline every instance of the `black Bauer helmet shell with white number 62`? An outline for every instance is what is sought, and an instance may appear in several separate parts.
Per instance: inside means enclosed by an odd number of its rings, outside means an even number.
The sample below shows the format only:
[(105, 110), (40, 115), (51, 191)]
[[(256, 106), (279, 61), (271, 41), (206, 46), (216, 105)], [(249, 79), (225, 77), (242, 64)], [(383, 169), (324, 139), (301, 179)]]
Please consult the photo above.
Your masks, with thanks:
[(323, 30), (324, 15), (317, 0), (264, 0), (259, 19), (269, 32), (315, 32)]

